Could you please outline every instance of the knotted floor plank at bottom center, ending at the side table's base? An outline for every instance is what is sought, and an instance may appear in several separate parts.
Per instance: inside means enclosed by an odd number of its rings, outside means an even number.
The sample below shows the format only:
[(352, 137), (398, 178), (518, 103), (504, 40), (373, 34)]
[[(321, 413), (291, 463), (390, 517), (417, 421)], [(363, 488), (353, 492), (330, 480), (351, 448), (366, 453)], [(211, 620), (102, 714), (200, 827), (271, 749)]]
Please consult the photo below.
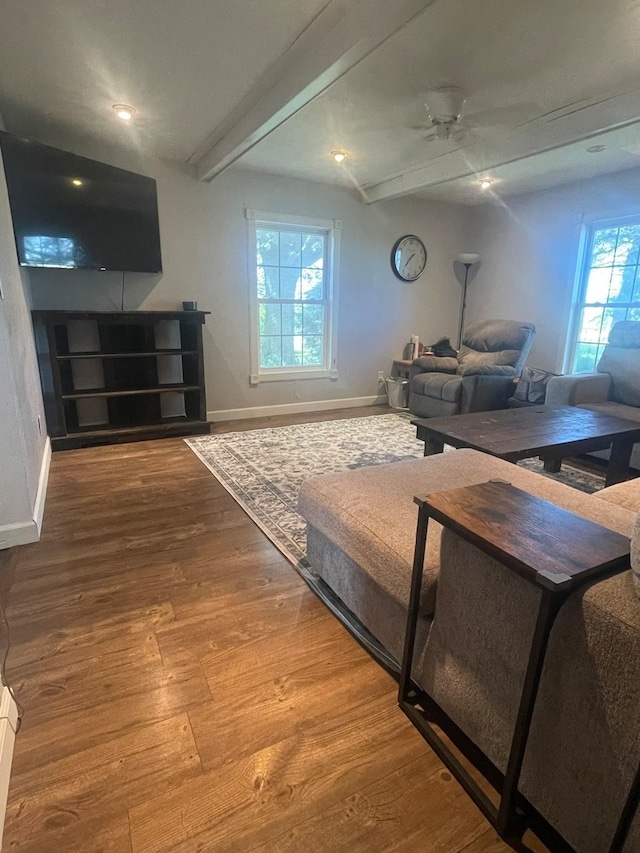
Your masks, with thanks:
[[(250, 849), (427, 748), (398, 709), (365, 702), (129, 812), (134, 853)], [(429, 760), (429, 759), (428, 759)], [(431, 760), (435, 760), (434, 757)]]

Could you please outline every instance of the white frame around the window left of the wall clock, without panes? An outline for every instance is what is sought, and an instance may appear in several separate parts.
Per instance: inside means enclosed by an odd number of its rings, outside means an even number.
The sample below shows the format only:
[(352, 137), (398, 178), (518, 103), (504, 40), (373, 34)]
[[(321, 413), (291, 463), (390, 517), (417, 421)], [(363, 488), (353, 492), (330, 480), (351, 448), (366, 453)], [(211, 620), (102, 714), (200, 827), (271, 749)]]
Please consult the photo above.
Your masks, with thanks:
[[(247, 219), (247, 259), (249, 281), (250, 331), (249, 353), (251, 362), (250, 382), (278, 382), (300, 379), (338, 378), (338, 270), (340, 269), (340, 234), (342, 220), (316, 219), (308, 216), (291, 216), (285, 213), (270, 213), (262, 210), (245, 211)], [(258, 281), (256, 237), (258, 228), (287, 228), (304, 231), (319, 231), (326, 235), (326, 267), (324, 268), (325, 313), (324, 364), (320, 367), (300, 365), (292, 367), (260, 367), (260, 330), (258, 311)]]

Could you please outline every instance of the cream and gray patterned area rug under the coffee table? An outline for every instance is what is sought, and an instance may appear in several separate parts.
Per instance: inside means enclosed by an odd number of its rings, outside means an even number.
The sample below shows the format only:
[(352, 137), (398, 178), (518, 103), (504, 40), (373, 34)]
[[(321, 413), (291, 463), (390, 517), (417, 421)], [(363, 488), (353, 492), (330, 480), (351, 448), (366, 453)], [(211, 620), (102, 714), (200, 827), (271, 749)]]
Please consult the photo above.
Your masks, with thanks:
[[(403, 413), (374, 415), (185, 441), (269, 539), (306, 575), (305, 523), (297, 507), (300, 484), (316, 474), (422, 456), (424, 445), (416, 439), (410, 417)], [(537, 459), (518, 464), (545, 473)], [(559, 474), (545, 476), (585, 492), (604, 486), (602, 476), (566, 462)]]

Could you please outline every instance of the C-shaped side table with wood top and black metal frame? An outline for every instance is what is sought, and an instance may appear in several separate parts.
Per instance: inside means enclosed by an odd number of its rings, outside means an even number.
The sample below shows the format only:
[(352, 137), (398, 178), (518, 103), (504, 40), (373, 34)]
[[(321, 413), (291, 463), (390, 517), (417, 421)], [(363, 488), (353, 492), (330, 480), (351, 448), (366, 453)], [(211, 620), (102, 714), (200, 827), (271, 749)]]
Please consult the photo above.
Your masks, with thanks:
[[(419, 507), (407, 630), (398, 701), (500, 836), (517, 841), (532, 828), (553, 850), (571, 848), (518, 791), (542, 665), (558, 611), (586, 581), (629, 568), (629, 540), (501, 480), (415, 497)], [(541, 590), (541, 599), (506, 773), (490, 759), (411, 677), (429, 519), (449, 528)], [(496, 807), (433, 726), (449, 736), (500, 794)], [(632, 795), (630, 795), (631, 797)], [(628, 812), (628, 809), (625, 809)], [(623, 814), (611, 848), (621, 850), (628, 826)], [(619, 845), (619, 846), (616, 846)]]

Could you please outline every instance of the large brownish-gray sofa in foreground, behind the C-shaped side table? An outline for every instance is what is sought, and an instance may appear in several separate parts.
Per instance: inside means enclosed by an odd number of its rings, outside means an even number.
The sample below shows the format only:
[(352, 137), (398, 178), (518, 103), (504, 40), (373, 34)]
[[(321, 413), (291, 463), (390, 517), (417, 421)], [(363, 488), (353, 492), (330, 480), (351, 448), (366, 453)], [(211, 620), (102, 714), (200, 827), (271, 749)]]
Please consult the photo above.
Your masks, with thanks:
[[(495, 477), (627, 536), (640, 507), (640, 481), (586, 495), (473, 450), (303, 484), (299, 506), (313, 571), (397, 660), (417, 520), (413, 496)], [(640, 530), (634, 536), (640, 552)], [(503, 771), (536, 594), (430, 524), (414, 677)], [(523, 793), (579, 853), (608, 849), (640, 762), (639, 731), (640, 601), (625, 572), (575, 594), (561, 610), (523, 768)], [(624, 850), (640, 850), (637, 815)]]

